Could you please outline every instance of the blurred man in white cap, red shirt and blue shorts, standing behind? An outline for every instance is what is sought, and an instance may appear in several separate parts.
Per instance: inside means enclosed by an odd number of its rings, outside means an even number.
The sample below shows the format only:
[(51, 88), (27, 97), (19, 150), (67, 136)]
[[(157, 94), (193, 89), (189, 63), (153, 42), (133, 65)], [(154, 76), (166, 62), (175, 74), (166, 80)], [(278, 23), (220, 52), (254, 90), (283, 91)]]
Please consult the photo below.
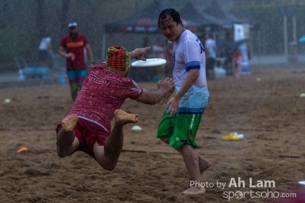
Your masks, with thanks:
[(77, 23), (70, 22), (68, 27), (69, 35), (65, 36), (60, 42), (58, 53), (67, 59), (66, 69), (71, 88), (71, 95), (74, 101), (87, 76), (84, 48), (87, 51), (87, 56), (90, 60), (90, 68), (95, 65), (95, 62), (87, 38), (78, 33)]

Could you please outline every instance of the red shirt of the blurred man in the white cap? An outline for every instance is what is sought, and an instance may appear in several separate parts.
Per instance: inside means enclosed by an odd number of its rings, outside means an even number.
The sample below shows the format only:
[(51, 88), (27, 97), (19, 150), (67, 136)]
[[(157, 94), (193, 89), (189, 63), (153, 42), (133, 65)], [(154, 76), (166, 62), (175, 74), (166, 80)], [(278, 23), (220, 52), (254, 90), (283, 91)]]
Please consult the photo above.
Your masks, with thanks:
[(70, 35), (65, 36), (60, 42), (60, 46), (66, 49), (67, 53), (73, 53), (74, 58), (67, 59), (67, 70), (83, 70), (86, 69), (84, 47), (88, 43), (84, 35), (78, 34), (76, 39), (73, 39)]

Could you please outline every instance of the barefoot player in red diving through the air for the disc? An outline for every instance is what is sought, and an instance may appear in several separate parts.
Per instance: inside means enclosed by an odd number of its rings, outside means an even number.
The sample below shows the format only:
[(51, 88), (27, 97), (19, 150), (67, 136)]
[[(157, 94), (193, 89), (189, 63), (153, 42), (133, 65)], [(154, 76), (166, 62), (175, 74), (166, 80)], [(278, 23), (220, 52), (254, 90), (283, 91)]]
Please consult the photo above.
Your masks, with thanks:
[[(148, 49), (150, 47), (128, 52), (124, 47), (112, 46), (107, 51), (106, 62), (90, 70), (72, 109), (57, 124), (59, 157), (83, 151), (105, 170), (114, 170), (123, 148), (123, 126), (138, 121), (138, 115), (119, 109), (125, 99), (155, 105), (175, 87), (173, 79), (166, 78), (159, 81), (157, 91), (150, 92), (127, 78), (130, 59), (146, 60), (143, 55)], [(115, 123), (111, 130), (113, 117)]]

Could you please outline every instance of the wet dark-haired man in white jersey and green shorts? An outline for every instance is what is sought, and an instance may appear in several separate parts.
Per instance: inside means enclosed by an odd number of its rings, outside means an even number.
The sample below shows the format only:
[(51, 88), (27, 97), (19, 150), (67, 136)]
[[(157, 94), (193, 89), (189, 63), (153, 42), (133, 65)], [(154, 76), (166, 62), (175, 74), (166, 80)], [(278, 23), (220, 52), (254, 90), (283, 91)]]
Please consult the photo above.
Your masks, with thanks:
[(168, 109), (158, 127), (157, 138), (182, 154), (191, 181), (198, 183), (182, 194), (205, 193), (205, 188), (200, 187), (200, 177), (211, 162), (197, 153), (195, 142), (209, 99), (204, 48), (200, 40), (183, 27), (180, 15), (174, 9), (161, 12), (158, 26), (167, 40), (174, 42), (173, 78), (176, 87), (175, 95), (168, 100)]

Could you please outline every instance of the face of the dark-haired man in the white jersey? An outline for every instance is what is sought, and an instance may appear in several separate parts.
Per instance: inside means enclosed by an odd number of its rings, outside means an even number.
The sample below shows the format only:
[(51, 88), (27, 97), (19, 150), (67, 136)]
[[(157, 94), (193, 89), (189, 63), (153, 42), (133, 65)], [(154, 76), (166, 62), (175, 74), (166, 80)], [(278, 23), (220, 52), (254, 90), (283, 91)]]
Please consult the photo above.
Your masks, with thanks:
[(180, 37), (181, 33), (184, 31), (184, 28), (181, 24), (178, 24), (173, 21), (170, 16), (167, 16), (166, 19), (160, 20), (161, 32), (169, 41), (176, 41)]

